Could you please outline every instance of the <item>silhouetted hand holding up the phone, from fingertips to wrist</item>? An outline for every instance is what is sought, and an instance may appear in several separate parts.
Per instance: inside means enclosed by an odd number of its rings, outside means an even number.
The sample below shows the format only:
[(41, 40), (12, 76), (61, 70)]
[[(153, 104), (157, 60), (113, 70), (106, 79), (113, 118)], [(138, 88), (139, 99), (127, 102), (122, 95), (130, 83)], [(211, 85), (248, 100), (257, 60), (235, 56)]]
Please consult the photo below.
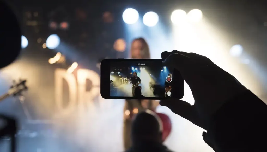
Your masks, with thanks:
[(214, 113), (234, 96), (247, 89), (231, 74), (215, 65), (209, 58), (195, 53), (173, 50), (161, 54), (163, 64), (180, 71), (189, 85), (194, 105), (168, 98), (161, 100), (160, 105), (207, 130)]

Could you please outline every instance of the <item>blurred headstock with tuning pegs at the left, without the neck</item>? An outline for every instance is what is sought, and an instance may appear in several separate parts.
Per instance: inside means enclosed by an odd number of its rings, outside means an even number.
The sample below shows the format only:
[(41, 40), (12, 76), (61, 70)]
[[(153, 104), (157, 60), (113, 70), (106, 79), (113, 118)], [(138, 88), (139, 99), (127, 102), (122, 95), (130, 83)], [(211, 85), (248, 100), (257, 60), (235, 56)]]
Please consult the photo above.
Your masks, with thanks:
[(9, 88), (8, 94), (17, 96), (20, 95), (22, 91), (28, 90), (28, 87), (25, 85), (26, 80), (19, 80), (18, 82), (13, 81), (13, 85)]

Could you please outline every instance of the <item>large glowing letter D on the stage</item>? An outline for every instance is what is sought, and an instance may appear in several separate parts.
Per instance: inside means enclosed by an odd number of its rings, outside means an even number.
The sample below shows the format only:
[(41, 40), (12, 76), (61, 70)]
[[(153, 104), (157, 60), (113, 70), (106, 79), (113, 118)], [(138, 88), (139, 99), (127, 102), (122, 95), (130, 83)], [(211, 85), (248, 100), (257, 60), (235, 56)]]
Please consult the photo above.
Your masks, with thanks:
[[(69, 87), (69, 104), (63, 107), (63, 79), (68, 83)], [(57, 116), (67, 116), (75, 110), (77, 99), (77, 84), (72, 73), (67, 73), (66, 69), (55, 70), (55, 102)]]

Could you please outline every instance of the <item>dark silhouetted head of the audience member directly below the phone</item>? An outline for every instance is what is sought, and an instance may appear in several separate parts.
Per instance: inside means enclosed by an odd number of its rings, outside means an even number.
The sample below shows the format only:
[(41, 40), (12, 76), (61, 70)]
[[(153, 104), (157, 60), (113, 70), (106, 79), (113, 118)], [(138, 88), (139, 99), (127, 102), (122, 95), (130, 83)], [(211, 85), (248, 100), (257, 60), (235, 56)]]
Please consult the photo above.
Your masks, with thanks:
[(146, 141), (162, 143), (162, 130), (162, 120), (155, 112), (151, 110), (139, 112), (132, 122), (133, 144)]

